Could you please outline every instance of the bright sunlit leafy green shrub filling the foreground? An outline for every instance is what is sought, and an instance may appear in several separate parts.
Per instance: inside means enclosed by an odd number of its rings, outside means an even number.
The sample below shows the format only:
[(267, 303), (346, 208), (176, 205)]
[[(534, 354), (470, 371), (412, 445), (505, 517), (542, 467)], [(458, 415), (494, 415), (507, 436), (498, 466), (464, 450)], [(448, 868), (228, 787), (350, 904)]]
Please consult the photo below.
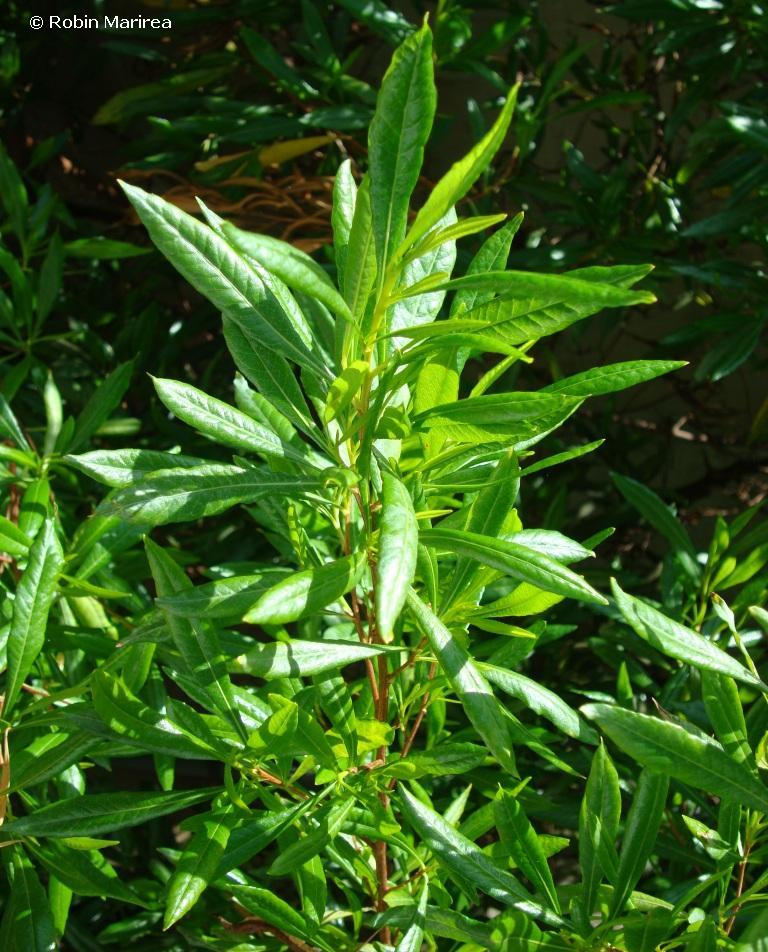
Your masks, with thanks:
[[(82, 452), (92, 420), (34, 454), (2, 407), (8, 483), (24, 466), (112, 487), (77, 528), (47, 487), (0, 523), (3, 948), (63, 935), (86, 949), (642, 952), (733, 945), (731, 932), (749, 949), (761, 934), (768, 688), (728, 652), (731, 635), (744, 644), (735, 622), (708, 637), (619, 586), (609, 603), (570, 568), (608, 532), (576, 541), (523, 521), (531, 475), (597, 449), (542, 453), (550, 434), (586, 400), (682, 365), (526, 388), (539, 341), (652, 303), (634, 289), (649, 268), (506, 270), (517, 217), (454, 277), (456, 242), (504, 217), (456, 206), (504, 141), (516, 90), (410, 218), (432, 54), (426, 25), (398, 47), (368, 171), (337, 175), (335, 281), (295, 247), (124, 186), (222, 313), (234, 404), (154, 380), (210, 455)], [(203, 531), (230, 554), (201, 568)], [(700, 685), (712, 731), (700, 711), (649, 716), (627, 676), (583, 714), (573, 687), (537, 678), (539, 652), (592, 612), (682, 662), (671, 680)], [(629, 759), (614, 763), (593, 724)], [(135, 758), (155, 774), (138, 790)], [(706, 870), (675, 892), (659, 870), (682, 806)], [(134, 860), (123, 875), (118, 844)]]

